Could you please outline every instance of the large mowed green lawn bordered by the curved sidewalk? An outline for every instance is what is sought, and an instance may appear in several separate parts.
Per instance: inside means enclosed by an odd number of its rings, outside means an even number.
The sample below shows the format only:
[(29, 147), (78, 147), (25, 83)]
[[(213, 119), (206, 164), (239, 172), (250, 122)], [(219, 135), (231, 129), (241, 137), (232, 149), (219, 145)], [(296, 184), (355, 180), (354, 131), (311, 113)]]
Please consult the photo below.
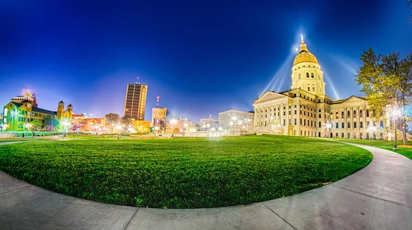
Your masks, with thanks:
[(347, 177), (368, 151), (326, 140), (245, 136), (72, 140), (0, 146), (0, 170), (82, 199), (160, 208), (276, 199)]

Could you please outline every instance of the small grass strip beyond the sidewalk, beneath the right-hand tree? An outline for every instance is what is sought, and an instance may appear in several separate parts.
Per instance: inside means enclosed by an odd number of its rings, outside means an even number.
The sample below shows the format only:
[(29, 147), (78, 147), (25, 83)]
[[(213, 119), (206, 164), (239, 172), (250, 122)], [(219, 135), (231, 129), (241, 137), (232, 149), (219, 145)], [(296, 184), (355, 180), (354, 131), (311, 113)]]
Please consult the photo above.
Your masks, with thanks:
[[(395, 140), (358, 140), (358, 139), (336, 139), (336, 140), (341, 140), (343, 142), (351, 142), (351, 143), (356, 143), (356, 144), (365, 144), (369, 146), (374, 146), (378, 147), (380, 149), (387, 149), (399, 154), (404, 155), (405, 157), (408, 157), (409, 159), (412, 159), (412, 149), (408, 148), (402, 148), (399, 147), (403, 142), (401, 140), (398, 140), (398, 149), (393, 150), (393, 145), (395, 144)], [(412, 145), (412, 142), (409, 141), (408, 145)]]

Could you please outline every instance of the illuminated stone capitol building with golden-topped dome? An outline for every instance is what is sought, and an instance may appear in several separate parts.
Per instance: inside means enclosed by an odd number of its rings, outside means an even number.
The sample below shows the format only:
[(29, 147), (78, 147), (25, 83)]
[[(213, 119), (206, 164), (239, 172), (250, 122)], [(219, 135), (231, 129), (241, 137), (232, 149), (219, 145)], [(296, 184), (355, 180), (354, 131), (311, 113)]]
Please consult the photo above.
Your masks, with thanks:
[[(387, 138), (391, 123), (372, 118), (365, 97), (332, 100), (325, 95), (323, 72), (302, 38), (292, 68), (291, 90), (266, 91), (255, 99), (255, 131), (288, 136)], [(392, 131), (393, 132), (393, 131)]]

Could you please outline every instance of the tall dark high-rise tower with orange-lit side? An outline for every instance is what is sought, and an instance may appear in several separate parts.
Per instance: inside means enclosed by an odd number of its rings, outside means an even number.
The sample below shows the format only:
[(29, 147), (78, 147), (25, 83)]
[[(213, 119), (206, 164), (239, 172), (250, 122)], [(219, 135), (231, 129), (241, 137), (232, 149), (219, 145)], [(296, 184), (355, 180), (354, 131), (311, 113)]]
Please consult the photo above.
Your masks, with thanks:
[(124, 100), (124, 117), (144, 120), (147, 92), (148, 85), (146, 84), (127, 84), (126, 99)]

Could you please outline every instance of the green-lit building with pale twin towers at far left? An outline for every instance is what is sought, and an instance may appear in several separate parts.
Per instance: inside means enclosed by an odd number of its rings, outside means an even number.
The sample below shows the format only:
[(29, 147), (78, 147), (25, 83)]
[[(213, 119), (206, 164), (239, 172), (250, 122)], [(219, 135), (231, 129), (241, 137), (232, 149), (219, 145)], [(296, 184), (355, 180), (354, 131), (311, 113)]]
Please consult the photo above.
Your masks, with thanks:
[[(34, 107), (36, 105), (36, 107)], [(63, 122), (67, 125), (65, 128), (71, 127), (73, 116), (73, 106), (68, 105), (65, 110), (65, 103), (58, 103), (57, 111), (44, 110), (37, 107), (37, 101), (34, 94), (27, 90), (25, 96), (16, 96), (10, 103), (3, 107), (3, 123), (7, 126), (5, 130), (23, 131), (29, 129), (29, 125), (33, 120), (39, 120), (41, 126), (39, 129), (44, 129), (47, 124), (47, 118), (54, 118), (59, 121), (60, 129), (64, 128)]]

